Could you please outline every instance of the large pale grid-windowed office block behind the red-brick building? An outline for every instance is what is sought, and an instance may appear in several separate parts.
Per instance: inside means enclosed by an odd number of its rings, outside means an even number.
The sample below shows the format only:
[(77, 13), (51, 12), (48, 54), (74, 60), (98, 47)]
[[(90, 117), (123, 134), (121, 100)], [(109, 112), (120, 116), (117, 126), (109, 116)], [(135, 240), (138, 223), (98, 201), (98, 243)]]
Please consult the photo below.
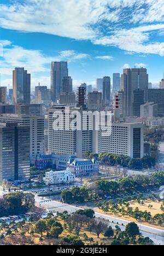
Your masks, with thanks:
[[(83, 157), (87, 151), (92, 151), (92, 124), (89, 123), (89, 119), (83, 117), (83, 109), (70, 108), (69, 112), (66, 112), (63, 106), (53, 106), (49, 109), (49, 153), (55, 153), (58, 155), (75, 155), (78, 158)], [(74, 115), (78, 115), (78, 129), (70, 129), (73, 125)], [(92, 112), (91, 112), (92, 113)], [(91, 118), (91, 113), (89, 117)], [(56, 118), (61, 117), (63, 122), (58, 123), (58, 127), (55, 127)], [(86, 129), (83, 129), (83, 126)], [(76, 127), (75, 127), (76, 128)], [(89, 129), (87, 129), (89, 128)]]

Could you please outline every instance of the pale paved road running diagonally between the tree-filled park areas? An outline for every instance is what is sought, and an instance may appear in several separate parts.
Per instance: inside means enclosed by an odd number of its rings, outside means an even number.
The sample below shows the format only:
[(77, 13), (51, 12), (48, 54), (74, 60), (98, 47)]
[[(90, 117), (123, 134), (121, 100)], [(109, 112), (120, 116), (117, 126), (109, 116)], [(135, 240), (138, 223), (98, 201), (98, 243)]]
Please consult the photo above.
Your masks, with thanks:
[[(66, 203), (61, 203), (58, 201), (45, 199), (46, 202), (43, 202), (43, 200), (40, 200), (39, 197), (36, 196), (36, 205), (37, 206), (42, 206), (46, 208), (49, 211), (58, 211), (58, 212), (63, 212), (63, 211), (68, 211), (69, 213), (73, 213), (77, 210), (84, 209), (84, 207), (77, 207), (74, 205), (67, 205)], [(42, 203), (40, 203), (40, 201)], [(115, 218), (108, 216), (106, 214), (101, 214), (101, 213), (95, 213), (96, 218), (101, 218), (104, 220), (109, 221), (110, 225), (114, 228), (115, 225), (120, 226), (121, 230), (125, 230), (125, 226), (130, 223), (128, 220), (120, 219), (120, 218)], [(112, 223), (112, 221), (114, 223)], [(123, 226), (122, 226), (123, 224)], [(156, 229), (150, 226), (146, 226), (143, 224), (137, 223), (139, 226), (140, 231), (142, 232), (143, 236), (145, 237), (150, 237), (151, 240), (154, 241), (155, 245), (164, 245), (164, 231), (160, 229)]]

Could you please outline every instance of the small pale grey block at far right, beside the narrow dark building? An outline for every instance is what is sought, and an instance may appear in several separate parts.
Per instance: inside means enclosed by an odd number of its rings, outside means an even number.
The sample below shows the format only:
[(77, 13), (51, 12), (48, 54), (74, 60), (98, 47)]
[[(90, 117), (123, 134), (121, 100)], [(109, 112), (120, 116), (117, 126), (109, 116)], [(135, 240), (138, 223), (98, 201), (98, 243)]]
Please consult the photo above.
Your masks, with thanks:
[(140, 117), (153, 118), (157, 117), (158, 106), (154, 102), (147, 102), (140, 106)]

